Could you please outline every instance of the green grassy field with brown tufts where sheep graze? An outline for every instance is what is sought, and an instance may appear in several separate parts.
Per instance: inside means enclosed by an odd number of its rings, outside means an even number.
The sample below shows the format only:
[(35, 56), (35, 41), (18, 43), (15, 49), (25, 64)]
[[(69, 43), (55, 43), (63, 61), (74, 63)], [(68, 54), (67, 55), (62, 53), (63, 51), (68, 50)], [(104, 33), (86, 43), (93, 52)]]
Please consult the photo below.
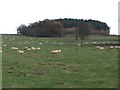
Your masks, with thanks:
[[(3, 35), (3, 88), (117, 88), (118, 49), (116, 36), (90, 36), (80, 40), (64, 38), (31, 38)], [(96, 42), (96, 44), (93, 44)], [(105, 49), (96, 49), (101, 45)], [(6, 45), (6, 46), (5, 46)], [(40, 47), (36, 53), (16, 53), (11, 47)], [(62, 52), (52, 54), (54, 49)]]

